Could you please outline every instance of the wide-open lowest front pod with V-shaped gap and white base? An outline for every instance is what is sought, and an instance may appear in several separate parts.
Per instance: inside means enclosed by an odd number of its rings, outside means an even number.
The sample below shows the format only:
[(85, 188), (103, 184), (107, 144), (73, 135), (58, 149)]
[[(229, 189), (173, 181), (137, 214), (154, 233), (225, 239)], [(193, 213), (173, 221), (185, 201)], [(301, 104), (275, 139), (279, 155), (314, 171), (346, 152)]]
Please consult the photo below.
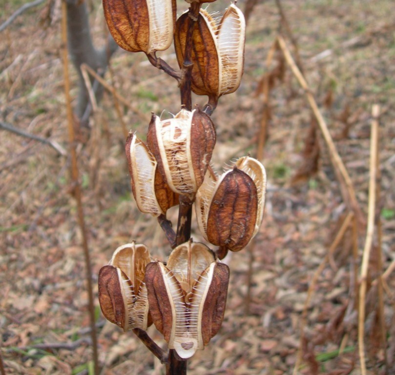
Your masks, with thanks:
[(229, 268), (198, 242), (177, 246), (167, 265), (146, 267), (149, 310), (169, 349), (184, 359), (204, 349), (224, 318)]

